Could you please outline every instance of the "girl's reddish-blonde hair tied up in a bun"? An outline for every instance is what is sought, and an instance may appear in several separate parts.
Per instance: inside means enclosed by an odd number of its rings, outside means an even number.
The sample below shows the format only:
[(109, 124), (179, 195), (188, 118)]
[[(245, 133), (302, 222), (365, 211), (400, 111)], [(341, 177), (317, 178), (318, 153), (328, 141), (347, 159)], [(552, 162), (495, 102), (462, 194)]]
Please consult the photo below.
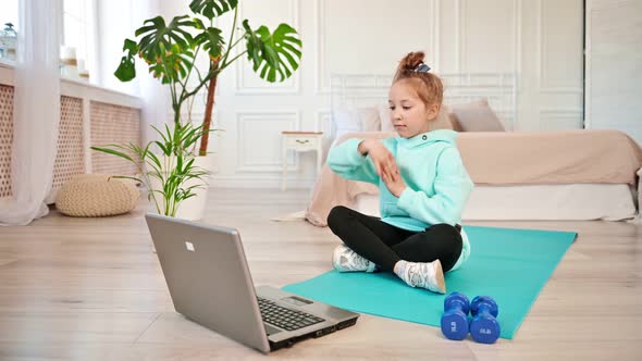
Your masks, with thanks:
[(417, 96), (425, 108), (437, 104), (437, 116), (431, 122), (430, 129), (453, 128), (446, 111), (442, 109), (444, 100), (444, 84), (442, 79), (434, 73), (419, 71), (419, 65), (423, 64), (425, 54), (423, 51), (409, 52), (397, 66), (397, 72), (393, 79), (393, 84), (397, 82), (405, 82), (412, 86)]

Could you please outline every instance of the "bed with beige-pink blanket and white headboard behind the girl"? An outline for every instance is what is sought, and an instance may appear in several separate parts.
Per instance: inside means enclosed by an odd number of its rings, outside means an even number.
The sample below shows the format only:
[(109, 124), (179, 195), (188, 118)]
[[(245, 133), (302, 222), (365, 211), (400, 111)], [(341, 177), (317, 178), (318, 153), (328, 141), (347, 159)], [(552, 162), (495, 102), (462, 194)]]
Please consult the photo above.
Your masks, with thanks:
[[(462, 214), (465, 221), (640, 221), (642, 150), (626, 134), (609, 129), (510, 132), (518, 122), (514, 75), (452, 74), (442, 78), (446, 84), (444, 103), (450, 110), (483, 99), (481, 103), (487, 108), (484, 111), (492, 110), (496, 115), (493, 122), (499, 121), (499, 125), (492, 123), (490, 127), (507, 130), (468, 132), (450, 124), (460, 132), (457, 146), (476, 183)], [(332, 146), (355, 137), (395, 136), (385, 128), (387, 122), (381, 122), (387, 116), (383, 102), (391, 80), (379, 75), (332, 77)], [(483, 114), (473, 111), (468, 117)], [(453, 121), (453, 114), (449, 120)], [(470, 128), (474, 122), (462, 123)], [(306, 220), (324, 226), (330, 210), (339, 204), (379, 215), (379, 189), (343, 179), (324, 165), (314, 184)]]

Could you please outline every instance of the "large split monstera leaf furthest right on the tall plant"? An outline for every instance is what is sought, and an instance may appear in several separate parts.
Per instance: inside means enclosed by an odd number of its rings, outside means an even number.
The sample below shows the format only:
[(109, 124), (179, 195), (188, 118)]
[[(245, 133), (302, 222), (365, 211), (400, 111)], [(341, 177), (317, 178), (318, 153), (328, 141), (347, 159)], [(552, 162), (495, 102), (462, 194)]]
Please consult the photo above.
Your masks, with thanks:
[(243, 21), (243, 27), (252, 70), (270, 83), (291, 77), (301, 58), (301, 40), (296, 30), (287, 24), (279, 25), (273, 34), (266, 26), (252, 30), (247, 20)]

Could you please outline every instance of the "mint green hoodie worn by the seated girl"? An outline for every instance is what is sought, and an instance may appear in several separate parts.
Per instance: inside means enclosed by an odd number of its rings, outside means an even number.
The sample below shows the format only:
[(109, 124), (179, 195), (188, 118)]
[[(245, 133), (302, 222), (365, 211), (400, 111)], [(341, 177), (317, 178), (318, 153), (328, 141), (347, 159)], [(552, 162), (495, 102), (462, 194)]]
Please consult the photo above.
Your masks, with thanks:
[[(395, 157), (406, 190), (393, 196), (376, 174), (370, 157), (362, 155), (363, 139), (348, 139), (330, 150), (328, 164), (347, 179), (375, 184), (380, 190), (381, 221), (396, 227), (421, 232), (431, 225), (461, 222), (461, 212), (473, 183), (464, 167), (455, 139), (457, 133), (431, 130), (412, 138), (399, 136), (381, 140)], [(461, 232), (464, 247), (453, 270), (470, 254), (470, 244)]]

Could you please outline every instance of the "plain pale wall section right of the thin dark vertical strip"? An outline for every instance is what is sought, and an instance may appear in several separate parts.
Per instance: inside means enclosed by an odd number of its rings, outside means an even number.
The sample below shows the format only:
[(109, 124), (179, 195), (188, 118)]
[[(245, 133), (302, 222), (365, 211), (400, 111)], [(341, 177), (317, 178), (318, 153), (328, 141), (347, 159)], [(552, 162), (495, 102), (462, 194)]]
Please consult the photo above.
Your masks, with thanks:
[(587, 127), (642, 144), (642, 1), (587, 2)]

